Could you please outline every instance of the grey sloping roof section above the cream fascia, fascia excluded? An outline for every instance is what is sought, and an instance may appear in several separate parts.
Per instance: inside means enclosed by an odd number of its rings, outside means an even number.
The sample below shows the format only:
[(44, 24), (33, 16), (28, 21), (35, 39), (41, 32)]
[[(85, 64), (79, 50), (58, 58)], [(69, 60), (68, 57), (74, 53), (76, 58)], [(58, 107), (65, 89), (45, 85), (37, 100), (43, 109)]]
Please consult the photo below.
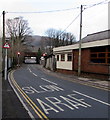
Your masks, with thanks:
[(98, 40), (104, 40), (110, 38), (110, 30), (105, 30), (93, 34), (88, 34), (86, 37), (82, 39), (82, 42), (92, 42), (92, 41), (98, 41)]

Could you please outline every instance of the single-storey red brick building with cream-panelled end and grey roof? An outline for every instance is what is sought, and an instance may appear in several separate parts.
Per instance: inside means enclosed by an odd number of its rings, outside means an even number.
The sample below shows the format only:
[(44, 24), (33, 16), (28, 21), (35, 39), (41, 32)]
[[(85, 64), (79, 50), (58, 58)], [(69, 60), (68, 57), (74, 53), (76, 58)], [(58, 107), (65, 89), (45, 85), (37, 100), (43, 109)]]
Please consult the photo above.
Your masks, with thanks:
[[(53, 49), (57, 71), (77, 74), (79, 43)], [(110, 30), (88, 34), (82, 39), (81, 73), (109, 79), (110, 75)]]

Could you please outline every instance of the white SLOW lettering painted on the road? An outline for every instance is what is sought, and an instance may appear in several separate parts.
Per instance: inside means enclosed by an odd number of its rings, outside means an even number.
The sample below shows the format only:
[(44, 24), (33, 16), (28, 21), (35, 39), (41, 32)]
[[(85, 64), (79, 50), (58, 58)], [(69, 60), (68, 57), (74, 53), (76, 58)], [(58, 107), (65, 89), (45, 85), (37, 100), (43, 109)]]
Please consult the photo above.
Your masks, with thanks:
[(64, 91), (64, 89), (55, 86), (55, 85), (40, 85), (39, 88), (30, 87), (22, 87), (22, 90), (25, 91), (27, 94), (34, 94), (34, 93), (44, 93), (44, 92), (53, 92), (53, 91)]

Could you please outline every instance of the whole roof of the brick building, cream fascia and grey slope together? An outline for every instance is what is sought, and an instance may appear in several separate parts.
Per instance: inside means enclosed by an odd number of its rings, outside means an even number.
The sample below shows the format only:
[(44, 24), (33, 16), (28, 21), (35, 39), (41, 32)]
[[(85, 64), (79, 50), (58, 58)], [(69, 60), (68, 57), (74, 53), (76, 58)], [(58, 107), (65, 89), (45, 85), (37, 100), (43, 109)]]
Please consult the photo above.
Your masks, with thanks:
[[(90, 47), (99, 47), (99, 46), (108, 46), (110, 41), (110, 30), (97, 32), (93, 34), (88, 34), (85, 38), (82, 39), (81, 48), (90, 48)], [(53, 49), (54, 53), (57, 52), (66, 52), (74, 49), (79, 49), (79, 43), (68, 46), (56, 47)]]

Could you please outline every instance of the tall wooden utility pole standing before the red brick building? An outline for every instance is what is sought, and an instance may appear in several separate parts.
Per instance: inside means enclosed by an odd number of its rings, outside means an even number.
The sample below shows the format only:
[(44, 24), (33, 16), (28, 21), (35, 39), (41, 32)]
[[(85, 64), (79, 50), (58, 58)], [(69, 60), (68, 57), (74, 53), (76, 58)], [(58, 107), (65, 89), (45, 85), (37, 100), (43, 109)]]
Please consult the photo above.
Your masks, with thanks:
[(80, 36), (79, 36), (79, 59), (78, 59), (78, 76), (80, 76), (80, 74), (81, 74), (82, 12), (83, 12), (83, 6), (81, 5), (81, 13), (80, 13)]

